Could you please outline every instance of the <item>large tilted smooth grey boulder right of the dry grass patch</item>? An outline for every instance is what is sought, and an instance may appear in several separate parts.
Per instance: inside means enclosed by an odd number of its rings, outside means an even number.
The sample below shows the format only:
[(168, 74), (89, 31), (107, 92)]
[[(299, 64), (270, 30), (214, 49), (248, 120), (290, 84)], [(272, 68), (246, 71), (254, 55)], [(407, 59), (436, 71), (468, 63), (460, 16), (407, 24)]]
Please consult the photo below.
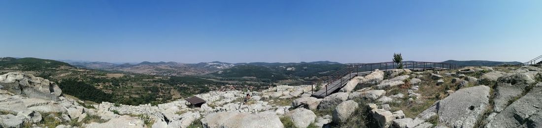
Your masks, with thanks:
[(430, 113), (437, 113), (439, 124), (450, 127), (474, 127), (489, 105), (489, 89), (483, 85), (459, 89), (437, 101), (418, 117), (423, 118)]

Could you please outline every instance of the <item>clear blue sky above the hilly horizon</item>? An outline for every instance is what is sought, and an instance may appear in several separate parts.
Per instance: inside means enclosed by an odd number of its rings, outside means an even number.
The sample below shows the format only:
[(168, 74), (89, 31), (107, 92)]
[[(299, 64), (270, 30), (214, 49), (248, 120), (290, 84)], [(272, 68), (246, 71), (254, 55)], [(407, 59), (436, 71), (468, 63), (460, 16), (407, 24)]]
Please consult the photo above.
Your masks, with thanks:
[(523, 62), (541, 49), (542, 1), (0, 1), (0, 56)]

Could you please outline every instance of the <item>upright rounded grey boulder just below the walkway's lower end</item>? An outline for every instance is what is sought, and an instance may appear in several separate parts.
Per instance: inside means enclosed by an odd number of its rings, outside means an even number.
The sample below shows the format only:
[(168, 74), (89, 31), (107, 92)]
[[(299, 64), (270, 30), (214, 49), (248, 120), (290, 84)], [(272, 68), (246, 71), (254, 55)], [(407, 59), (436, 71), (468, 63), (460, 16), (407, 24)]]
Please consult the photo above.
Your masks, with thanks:
[(335, 123), (345, 123), (349, 120), (352, 113), (356, 111), (356, 108), (358, 108), (358, 103), (353, 100), (347, 100), (340, 103), (333, 111), (333, 121)]

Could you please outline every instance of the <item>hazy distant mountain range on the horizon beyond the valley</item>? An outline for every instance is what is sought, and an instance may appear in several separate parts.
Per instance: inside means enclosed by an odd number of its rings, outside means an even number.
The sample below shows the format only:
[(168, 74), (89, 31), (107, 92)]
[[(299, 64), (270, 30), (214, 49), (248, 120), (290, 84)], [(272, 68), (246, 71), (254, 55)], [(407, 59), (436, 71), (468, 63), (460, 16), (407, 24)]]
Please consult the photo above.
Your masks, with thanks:
[[(343, 65), (339, 62), (331, 62), (331, 61), (315, 61), (315, 62), (299, 62), (299, 63), (268, 63), (268, 62), (250, 62), (250, 63), (227, 63), (227, 62), (220, 62), (220, 61), (213, 61), (213, 62), (201, 62), (201, 63), (178, 63), (178, 62), (149, 62), (144, 61), (140, 63), (130, 64), (130, 63), (109, 63), (109, 62), (86, 62), (86, 61), (67, 61), (70, 63), (70, 65), (81, 67), (81, 68), (89, 68), (89, 69), (101, 69), (106, 71), (125, 71), (125, 72), (133, 72), (133, 73), (143, 73), (143, 74), (150, 74), (150, 75), (202, 75), (202, 74), (209, 74), (214, 73), (217, 76), (233, 76), (233, 77), (243, 77), (243, 76), (261, 76), (256, 74), (267, 74), (269, 72), (275, 72), (275, 71), (281, 71), (282, 68), (285, 70), (288, 66), (290, 66), (289, 71), (293, 72), (295, 70), (292, 66), (298, 66), (298, 65)], [(251, 73), (248, 73), (247, 71), (242, 71), (246, 69), (246, 67), (250, 66), (256, 66), (259, 68), (262, 68), (262, 70), (255, 70)], [(230, 69), (233, 67), (240, 67), (240, 68), (234, 68), (233, 71), (223, 72), (224, 74), (217, 73), (218, 71), (222, 71), (225, 69)], [(280, 68), (278, 68), (280, 67)], [(305, 66), (305, 67), (311, 67), (311, 66)], [(269, 68), (269, 69), (264, 69)], [(273, 69), (272, 69), (273, 68)], [(298, 69), (301, 69), (302, 67), (298, 67)], [(241, 71), (237, 71), (237, 69), (241, 69)], [(327, 68), (326, 68), (327, 69)], [(240, 72), (237, 75), (229, 74), (230, 72)], [(299, 71), (298, 71), (299, 72)], [(281, 79), (285, 78), (282, 76), (286, 76), (288, 74), (282, 74), (279, 73), (276, 75), (276, 77), (281, 77)], [(260, 77), (257, 77), (260, 78)]]

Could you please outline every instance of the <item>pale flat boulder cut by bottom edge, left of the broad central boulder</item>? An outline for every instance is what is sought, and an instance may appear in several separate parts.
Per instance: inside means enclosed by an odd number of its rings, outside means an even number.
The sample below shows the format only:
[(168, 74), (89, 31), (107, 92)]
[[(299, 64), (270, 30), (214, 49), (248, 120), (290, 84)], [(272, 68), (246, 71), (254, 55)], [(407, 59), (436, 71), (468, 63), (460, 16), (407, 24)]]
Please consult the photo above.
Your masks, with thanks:
[(113, 118), (106, 123), (90, 123), (84, 125), (85, 127), (146, 127), (143, 120), (136, 117), (120, 116), (119, 118)]

